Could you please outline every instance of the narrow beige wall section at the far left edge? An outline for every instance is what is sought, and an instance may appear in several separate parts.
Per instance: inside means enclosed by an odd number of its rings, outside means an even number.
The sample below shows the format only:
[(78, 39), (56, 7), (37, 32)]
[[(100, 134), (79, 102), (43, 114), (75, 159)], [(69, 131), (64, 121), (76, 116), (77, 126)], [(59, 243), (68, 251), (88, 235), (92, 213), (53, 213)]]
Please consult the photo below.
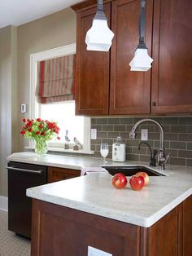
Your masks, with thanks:
[[(7, 195), (7, 156), (13, 147), (16, 104), (16, 28), (0, 29), (0, 195)], [(12, 119), (13, 117), (13, 119)], [(15, 138), (13, 138), (14, 140)]]

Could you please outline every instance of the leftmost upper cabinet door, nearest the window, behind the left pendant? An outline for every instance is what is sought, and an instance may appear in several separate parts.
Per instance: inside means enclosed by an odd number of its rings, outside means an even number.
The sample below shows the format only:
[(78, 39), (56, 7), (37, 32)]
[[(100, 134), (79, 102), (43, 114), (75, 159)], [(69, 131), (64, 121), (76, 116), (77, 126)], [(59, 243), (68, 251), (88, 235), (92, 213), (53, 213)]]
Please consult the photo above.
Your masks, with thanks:
[[(111, 3), (104, 5), (110, 25)], [(76, 31), (76, 114), (108, 113), (109, 52), (87, 51), (85, 34), (92, 25), (96, 8), (77, 13)]]

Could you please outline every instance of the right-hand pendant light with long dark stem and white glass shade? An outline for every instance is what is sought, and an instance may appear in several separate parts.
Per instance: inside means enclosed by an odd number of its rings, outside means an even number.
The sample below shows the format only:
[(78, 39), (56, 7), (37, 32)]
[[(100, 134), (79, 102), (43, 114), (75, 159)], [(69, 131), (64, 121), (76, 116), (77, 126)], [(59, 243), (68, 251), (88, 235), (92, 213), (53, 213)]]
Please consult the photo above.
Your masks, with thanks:
[(141, 13), (139, 19), (139, 43), (134, 53), (133, 60), (129, 63), (131, 71), (147, 71), (151, 68), (153, 59), (148, 55), (145, 38), (146, 25), (146, 0), (141, 0)]

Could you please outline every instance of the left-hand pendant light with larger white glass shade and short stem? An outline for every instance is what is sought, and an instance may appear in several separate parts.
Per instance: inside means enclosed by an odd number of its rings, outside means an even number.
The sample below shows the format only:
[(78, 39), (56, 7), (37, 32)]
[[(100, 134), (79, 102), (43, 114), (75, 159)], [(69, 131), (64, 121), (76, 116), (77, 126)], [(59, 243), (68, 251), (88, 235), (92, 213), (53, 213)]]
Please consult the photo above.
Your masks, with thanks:
[(87, 31), (85, 43), (88, 51), (109, 51), (114, 33), (108, 28), (103, 11), (103, 0), (98, 0), (97, 13), (92, 27)]

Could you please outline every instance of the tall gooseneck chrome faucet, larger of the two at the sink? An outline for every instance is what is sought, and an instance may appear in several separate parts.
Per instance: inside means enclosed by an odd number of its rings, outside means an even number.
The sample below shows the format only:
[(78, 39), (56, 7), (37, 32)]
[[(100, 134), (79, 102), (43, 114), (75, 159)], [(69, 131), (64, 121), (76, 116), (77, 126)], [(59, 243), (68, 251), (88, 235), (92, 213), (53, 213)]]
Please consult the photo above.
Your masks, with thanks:
[(157, 125), (159, 127), (160, 139), (159, 139), (158, 165), (161, 168), (161, 170), (165, 170), (165, 164), (168, 161), (169, 154), (167, 157), (165, 156), (165, 153), (164, 153), (164, 128), (159, 124), (158, 121), (155, 121), (155, 120), (149, 119), (149, 118), (137, 121), (137, 123), (133, 126), (132, 130), (129, 133), (129, 138), (135, 139), (137, 127), (146, 121), (155, 123), (155, 125)]

